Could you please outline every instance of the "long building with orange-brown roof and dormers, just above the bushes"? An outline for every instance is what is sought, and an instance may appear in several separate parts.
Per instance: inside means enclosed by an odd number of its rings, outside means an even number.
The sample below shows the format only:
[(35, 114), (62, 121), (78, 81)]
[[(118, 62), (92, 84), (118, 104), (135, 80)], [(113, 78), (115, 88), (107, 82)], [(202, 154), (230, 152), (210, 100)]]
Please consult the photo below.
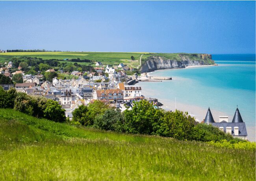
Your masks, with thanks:
[(102, 101), (106, 100), (111, 103), (119, 103), (124, 100), (124, 95), (120, 89), (96, 90), (93, 98)]

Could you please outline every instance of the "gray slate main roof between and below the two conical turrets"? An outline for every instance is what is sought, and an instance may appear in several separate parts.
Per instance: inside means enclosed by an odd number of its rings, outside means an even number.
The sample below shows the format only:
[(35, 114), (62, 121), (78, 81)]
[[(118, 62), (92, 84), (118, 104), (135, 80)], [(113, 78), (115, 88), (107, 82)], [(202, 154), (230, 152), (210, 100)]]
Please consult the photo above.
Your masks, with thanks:
[(226, 127), (232, 127), (232, 135), (234, 135), (234, 127), (238, 127), (239, 136), (247, 136), (247, 130), (244, 122), (213, 122), (212, 126), (224, 127), (224, 132), (226, 133)]

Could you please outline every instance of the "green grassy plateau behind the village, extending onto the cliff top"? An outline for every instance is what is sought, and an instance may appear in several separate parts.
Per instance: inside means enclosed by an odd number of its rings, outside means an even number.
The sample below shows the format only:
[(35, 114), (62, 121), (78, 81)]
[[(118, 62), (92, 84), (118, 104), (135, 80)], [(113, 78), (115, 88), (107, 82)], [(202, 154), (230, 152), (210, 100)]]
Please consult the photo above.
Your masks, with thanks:
[[(42, 59), (89, 59), (93, 62), (100, 61), (104, 65), (118, 65), (123, 63), (134, 68), (140, 65), (139, 59), (141, 58), (142, 64), (150, 56), (162, 56), (167, 59), (173, 59), (180, 61), (180, 54), (186, 55), (191, 60), (200, 59), (200, 54), (185, 54), (185, 53), (148, 53), (148, 52), (7, 52), (0, 53), (0, 63), (11, 60), (13, 57), (37, 57)], [(134, 56), (135, 60), (131, 60), (131, 56)], [(202, 60), (209, 62), (210, 59)], [(89, 65), (89, 63), (83, 62), (79, 64)]]

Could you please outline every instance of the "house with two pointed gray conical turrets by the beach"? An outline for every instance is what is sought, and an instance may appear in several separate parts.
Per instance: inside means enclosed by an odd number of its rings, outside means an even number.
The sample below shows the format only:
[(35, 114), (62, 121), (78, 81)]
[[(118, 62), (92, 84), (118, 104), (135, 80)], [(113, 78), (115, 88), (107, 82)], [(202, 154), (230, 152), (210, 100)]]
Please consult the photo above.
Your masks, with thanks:
[(235, 138), (247, 140), (247, 130), (245, 122), (243, 122), (238, 108), (236, 108), (236, 112), (232, 119), (232, 122), (228, 122), (228, 116), (219, 116), (219, 122), (215, 122), (213, 116), (211, 115), (211, 110), (209, 107), (203, 122), (205, 124), (211, 124), (212, 126), (218, 127), (221, 131), (224, 131), (225, 133), (230, 133), (230, 135)]

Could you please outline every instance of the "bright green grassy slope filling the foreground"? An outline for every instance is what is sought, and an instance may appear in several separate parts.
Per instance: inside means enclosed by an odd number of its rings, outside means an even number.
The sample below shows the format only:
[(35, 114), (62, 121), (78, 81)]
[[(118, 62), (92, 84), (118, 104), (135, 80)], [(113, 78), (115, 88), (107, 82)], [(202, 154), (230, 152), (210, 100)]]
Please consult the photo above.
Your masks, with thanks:
[(0, 109), (0, 180), (255, 180), (255, 151), (122, 135)]

